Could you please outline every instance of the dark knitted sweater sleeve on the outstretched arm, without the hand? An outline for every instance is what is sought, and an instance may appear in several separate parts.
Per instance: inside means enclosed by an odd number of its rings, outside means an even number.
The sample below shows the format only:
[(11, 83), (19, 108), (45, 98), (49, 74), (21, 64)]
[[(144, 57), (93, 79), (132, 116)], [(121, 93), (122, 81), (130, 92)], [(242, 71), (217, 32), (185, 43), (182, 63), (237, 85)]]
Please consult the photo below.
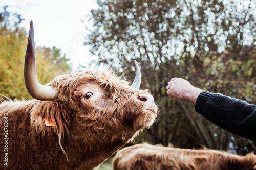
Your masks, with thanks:
[(195, 111), (226, 131), (256, 142), (256, 105), (203, 91), (197, 98)]

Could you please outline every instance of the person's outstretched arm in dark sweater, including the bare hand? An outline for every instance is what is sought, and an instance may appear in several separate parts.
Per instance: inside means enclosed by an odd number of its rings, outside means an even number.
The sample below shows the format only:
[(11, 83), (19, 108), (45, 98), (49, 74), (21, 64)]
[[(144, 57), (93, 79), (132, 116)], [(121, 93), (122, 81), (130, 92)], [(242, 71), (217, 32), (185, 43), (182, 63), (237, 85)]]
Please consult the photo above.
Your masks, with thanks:
[(195, 111), (219, 127), (256, 141), (256, 105), (219, 93), (203, 91), (181, 78), (174, 78), (166, 87), (173, 98), (189, 101)]

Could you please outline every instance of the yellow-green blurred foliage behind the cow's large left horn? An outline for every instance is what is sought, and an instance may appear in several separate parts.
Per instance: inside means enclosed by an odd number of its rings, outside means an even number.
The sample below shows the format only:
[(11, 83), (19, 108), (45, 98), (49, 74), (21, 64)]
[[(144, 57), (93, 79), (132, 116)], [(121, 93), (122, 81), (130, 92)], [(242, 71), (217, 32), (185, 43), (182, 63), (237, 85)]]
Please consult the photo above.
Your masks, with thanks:
[[(19, 28), (22, 21), (11, 26), (9, 13), (4, 8), (0, 14), (0, 94), (14, 99), (32, 99), (24, 84), (24, 60), (27, 48), (27, 33)], [(56, 47), (36, 48), (37, 77), (41, 84), (50, 82), (55, 76), (71, 71), (68, 59), (61, 56)]]

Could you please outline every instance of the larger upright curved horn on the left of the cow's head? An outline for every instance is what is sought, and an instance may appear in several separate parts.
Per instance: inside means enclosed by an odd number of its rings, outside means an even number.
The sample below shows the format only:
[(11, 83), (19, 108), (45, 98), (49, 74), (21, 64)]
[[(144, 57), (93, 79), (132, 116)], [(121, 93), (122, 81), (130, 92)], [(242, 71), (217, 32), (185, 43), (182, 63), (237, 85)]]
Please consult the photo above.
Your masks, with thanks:
[(33, 22), (30, 22), (29, 39), (24, 65), (25, 85), (29, 94), (37, 100), (53, 100), (57, 90), (51, 86), (43, 86), (38, 83), (35, 66), (35, 40)]

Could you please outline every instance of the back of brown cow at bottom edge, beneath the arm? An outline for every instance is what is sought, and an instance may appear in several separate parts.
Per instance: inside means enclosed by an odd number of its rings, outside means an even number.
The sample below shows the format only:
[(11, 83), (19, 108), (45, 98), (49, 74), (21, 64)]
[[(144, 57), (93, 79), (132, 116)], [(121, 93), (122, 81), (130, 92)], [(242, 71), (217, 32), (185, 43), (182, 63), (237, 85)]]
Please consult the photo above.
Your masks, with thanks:
[(256, 155), (136, 144), (117, 152), (113, 167), (114, 170), (249, 170), (256, 169)]

